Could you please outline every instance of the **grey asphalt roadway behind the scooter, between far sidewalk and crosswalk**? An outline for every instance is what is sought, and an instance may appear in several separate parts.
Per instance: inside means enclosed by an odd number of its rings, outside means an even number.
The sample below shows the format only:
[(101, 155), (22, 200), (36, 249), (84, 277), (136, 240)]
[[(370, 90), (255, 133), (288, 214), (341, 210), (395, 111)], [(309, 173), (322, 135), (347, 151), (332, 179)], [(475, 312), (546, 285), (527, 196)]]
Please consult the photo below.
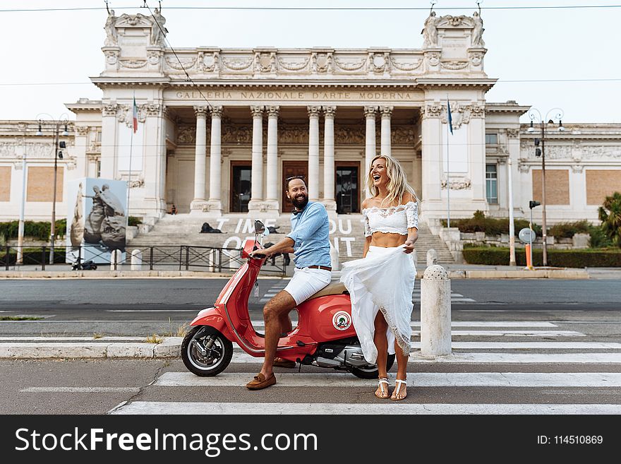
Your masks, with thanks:
[[(0, 318), (35, 316), (40, 321), (0, 321), (0, 335), (174, 335), (200, 309), (209, 307), (227, 279), (1, 280)], [(251, 318), (263, 319), (270, 295), (285, 284), (260, 279), (259, 296), (248, 304)], [(416, 282), (413, 319), (418, 319)], [(547, 320), (616, 318), (621, 309), (618, 280), (452, 280), (454, 320), (488, 311), (490, 320), (524, 314)], [(608, 314), (608, 316), (606, 315)], [(603, 328), (605, 330), (605, 328)]]

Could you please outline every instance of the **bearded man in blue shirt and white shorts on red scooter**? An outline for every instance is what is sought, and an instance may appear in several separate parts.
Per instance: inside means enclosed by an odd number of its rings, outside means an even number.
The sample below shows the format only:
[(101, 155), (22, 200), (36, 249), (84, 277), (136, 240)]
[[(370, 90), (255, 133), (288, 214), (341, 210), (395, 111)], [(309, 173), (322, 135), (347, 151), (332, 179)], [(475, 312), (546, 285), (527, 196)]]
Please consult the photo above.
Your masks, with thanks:
[[(253, 255), (267, 256), (275, 253), (294, 253), (296, 268), (287, 287), (270, 299), (263, 308), (265, 319), (265, 360), (255, 378), (246, 383), (251, 390), (274, 385), (274, 365), (290, 367), (284, 359), (277, 358), (276, 350), (282, 328), (291, 330), (289, 311), (330, 283), (330, 222), (325, 206), (309, 202), (306, 182), (302, 176), (289, 177), (285, 185), (287, 198), (293, 203), (291, 232), (275, 245), (253, 251)], [(276, 361), (276, 364), (275, 364)]]

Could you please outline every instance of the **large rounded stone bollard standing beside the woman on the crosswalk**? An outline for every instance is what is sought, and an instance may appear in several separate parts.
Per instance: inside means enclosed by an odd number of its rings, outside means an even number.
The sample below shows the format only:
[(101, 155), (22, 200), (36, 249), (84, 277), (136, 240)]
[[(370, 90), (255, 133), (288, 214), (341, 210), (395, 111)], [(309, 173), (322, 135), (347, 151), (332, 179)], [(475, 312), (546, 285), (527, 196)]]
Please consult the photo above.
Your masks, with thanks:
[(421, 279), (421, 355), (451, 354), (451, 281), (445, 268), (434, 264)]

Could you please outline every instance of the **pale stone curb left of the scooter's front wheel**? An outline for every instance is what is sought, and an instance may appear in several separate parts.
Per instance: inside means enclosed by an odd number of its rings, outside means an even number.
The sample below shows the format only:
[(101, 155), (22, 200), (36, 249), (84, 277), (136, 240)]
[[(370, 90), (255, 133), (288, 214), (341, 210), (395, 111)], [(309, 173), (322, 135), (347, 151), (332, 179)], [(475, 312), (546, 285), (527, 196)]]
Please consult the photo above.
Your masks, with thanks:
[(181, 337), (162, 343), (0, 343), (0, 359), (179, 357)]

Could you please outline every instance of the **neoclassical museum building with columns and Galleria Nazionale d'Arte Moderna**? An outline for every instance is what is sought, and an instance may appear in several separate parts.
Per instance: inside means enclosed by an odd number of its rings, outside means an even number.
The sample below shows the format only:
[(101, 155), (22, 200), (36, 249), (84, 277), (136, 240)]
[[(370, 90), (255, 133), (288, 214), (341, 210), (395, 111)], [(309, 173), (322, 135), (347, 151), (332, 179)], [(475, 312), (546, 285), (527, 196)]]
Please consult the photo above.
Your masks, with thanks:
[[(59, 136), (61, 212), (66, 182), (102, 177), (128, 181), (135, 216), (162, 218), (174, 204), (205, 218), (273, 217), (291, 208), (284, 179), (303, 174), (310, 200), (332, 217), (360, 213), (380, 153), (402, 162), (428, 225), (449, 204), (451, 218), (507, 217), (510, 185), (516, 217), (541, 201), (541, 126), (520, 124), (529, 105), (486, 101), (496, 80), (477, 13), (432, 13), (413, 49), (175, 50), (156, 13), (111, 12), (104, 68), (91, 78), (102, 100), (66, 105), (75, 121)], [(548, 221), (595, 221), (604, 196), (621, 189), (621, 125), (563, 121), (561, 132), (557, 122), (545, 134)], [(27, 220), (51, 216), (54, 131), (38, 130), (37, 121), (0, 121), (0, 220), (19, 217), (23, 195)]]

